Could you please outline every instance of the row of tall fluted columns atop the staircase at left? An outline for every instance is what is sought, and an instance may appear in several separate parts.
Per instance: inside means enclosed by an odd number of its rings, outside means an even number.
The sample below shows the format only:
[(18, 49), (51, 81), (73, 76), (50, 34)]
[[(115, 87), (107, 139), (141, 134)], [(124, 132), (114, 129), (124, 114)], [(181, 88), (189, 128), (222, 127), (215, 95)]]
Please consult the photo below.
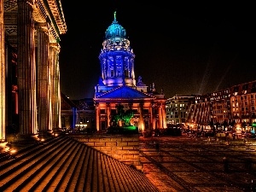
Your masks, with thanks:
[[(0, 140), (6, 141), (6, 60), (3, 1), (0, 1)], [(34, 20), (32, 0), (18, 0), (17, 95), (19, 137), (44, 136), (61, 128), (61, 90), (58, 39), (49, 38), (47, 20)]]

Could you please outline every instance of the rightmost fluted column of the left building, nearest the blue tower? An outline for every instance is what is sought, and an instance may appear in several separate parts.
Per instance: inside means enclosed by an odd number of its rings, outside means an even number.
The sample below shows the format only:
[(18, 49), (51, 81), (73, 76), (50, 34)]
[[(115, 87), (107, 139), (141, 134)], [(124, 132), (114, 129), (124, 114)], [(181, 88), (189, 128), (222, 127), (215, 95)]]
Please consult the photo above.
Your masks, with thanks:
[(51, 79), (51, 103), (52, 103), (52, 128), (61, 128), (61, 89), (60, 89), (60, 46), (56, 43), (49, 44), (49, 68)]

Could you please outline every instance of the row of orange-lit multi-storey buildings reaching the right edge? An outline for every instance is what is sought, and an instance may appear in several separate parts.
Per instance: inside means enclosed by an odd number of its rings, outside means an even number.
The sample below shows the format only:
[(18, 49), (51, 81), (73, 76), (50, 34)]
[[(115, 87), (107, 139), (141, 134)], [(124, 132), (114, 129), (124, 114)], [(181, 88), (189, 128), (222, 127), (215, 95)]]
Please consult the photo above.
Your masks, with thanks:
[(189, 100), (188, 125), (211, 125), (220, 130), (254, 132), (256, 122), (256, 80), (236, 84)]

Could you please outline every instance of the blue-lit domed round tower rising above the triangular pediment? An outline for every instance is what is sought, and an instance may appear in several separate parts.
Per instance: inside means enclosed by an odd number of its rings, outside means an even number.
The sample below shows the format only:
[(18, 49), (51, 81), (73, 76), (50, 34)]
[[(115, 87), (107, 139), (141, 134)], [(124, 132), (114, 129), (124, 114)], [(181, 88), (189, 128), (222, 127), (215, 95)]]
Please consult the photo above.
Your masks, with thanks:
[[(122, 85), (136, 89), (134, 58), (125, 28), (119, 25), (114, 12), (113, 22), (105, 32), (105, 40), (99, 55), (101, 76), (96, 85), (96, 96)], [(142, 84), (141, 77), (138, 81), (139, 89), (147, 92), (148, 86)]]

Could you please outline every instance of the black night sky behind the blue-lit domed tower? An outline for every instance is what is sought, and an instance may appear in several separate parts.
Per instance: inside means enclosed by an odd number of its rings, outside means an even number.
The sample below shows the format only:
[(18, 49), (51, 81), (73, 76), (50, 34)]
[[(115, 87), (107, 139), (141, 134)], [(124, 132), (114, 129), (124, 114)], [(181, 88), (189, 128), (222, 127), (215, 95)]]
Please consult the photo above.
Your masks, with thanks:
[(253, 1), (75, 2), (61, 1), (67, 22), (60, 43), (61, 92), (70, 99), (94, 97), (98, 55), (115, 10), (136, 55), (136, 79), (142, 76), (144, 84), (154, 83), (166, 98), (256, 80)]

